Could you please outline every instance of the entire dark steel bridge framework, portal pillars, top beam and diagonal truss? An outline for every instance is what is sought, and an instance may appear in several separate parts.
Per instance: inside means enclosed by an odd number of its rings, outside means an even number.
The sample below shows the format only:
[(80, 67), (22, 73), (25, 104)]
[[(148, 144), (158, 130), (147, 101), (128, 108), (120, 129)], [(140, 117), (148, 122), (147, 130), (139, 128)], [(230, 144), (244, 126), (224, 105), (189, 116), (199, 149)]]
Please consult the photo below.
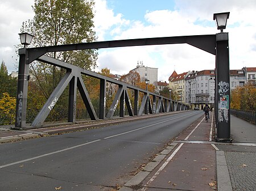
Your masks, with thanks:
[[(92, 71), (81, 69), (71, 64), (61, 62), (51, 57), (44, 56), (48, 52), (61, 52), (69, 50), (84, 50), (84, 49), (100, 49), (100, 48), (118, 48), (126, 46), (146, 46), (146, 45), (167, 45), (167, 44), (189, 44), (204, 50), (210, 54), (216, 55), (216, 126), (218, 141), (230, 141), (230, 88), (229, 88), (229, 47), (228, 47), (228, 33), (217, 33), (216, 35), (196, 35), (196, 36), (176, 36), (176, 37), (156, 37), (146, 39), (130, 39), (130, 40), (114, 40), (101, 41), (92, 43), (68, 44), (57, 46), (43, 46), (36, 48), (22, 48), (19, 49), (19, 71), (18, 71), (18, 90), (16, 96), (16, 118), (15, 128), (27, 129), (26, 127), (26, 110), (27, 110), (27, 90), (29, 75), (29, 64), (35, 60), (49, 63), (51, 65), (63, 67), (67, 70), (64, 78), (61, 79), (52, 95), (44, 104), (43, 108), (32, 122), (31, 126), (39, 128), (42, 126), (47, 115), (54, 107), (59, 96), (69, 84), (69, 107), (68, 107), (68, 122), (75, 122), (75, 108), (76, 108), (76, 87), (79, 88), (82, 99), (84, 100), (86, 109), (88, 109), (90, 118), (98, 120), (97, 114), (94, 111), (92, 103), (90, 102), (86, 87), (81, 80), (81, 74), (89, 75), (100, 79), (100, 119), (112, 118), (117, 102), (120, 100), (120, 116), (124, 117), (123, 109), (126, 107), (130, 116), (142, 115), (144, 113), (158, 113), (167, 111), (177, 111), (188, 109), (188, 105), (170, 100), (166, 97), (153, 94), (151, 92), (142, 90), (129, 84), (119, 82), (112, 78), (104, 77)], [(118, 91), (115, 95), (114, 101), (110, 107), (108, 114), (105, 113), (105, 99), (106, 99), (106, 82), (118, 84)], [(225, 83), (225, 86), (224, 86)], [(129, 96), (127, 88), (135, 91), (134, 109), (129, 103)], [(141, 108), (138, 108), (138, 92), (144, 92)], [(151, 104), (149, 96), (153, 96), (153, 104)], [(156, 103), (156, 98), (158, 102)], [(228, 99), (228, 107), (220, 106), (221, 99)], [(165, 100), (165, 101), (164, 101)], [(148, 103), (147, 109), (143, 107)], [(168, 104), (167, 104), (168, 103)], [(143, 107), (142, 107), (143, 106)]]

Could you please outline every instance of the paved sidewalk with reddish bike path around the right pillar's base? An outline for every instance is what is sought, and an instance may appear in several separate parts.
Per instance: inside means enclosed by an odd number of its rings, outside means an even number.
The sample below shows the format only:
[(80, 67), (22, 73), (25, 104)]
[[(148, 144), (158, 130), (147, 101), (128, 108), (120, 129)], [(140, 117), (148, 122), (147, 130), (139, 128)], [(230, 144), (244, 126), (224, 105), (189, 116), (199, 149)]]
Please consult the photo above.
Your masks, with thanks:
[(201, 117), (119, 191), (256, 190), (256, 126), (231, 120), (233, 143), (214, 142), (212, 113)]

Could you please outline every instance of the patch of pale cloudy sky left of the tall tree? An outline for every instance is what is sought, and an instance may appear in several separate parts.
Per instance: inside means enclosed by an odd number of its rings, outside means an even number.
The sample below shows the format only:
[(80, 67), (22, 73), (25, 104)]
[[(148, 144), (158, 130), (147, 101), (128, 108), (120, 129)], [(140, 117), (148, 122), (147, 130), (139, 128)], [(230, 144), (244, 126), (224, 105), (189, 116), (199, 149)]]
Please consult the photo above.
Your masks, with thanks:
[(32, 19), (33, 0), (0, 0), (0, 59), (5, 61), (7, 69), (16, 70), (16, 59), (14, 45), (19, 44), (20, 27), (22, 22)]

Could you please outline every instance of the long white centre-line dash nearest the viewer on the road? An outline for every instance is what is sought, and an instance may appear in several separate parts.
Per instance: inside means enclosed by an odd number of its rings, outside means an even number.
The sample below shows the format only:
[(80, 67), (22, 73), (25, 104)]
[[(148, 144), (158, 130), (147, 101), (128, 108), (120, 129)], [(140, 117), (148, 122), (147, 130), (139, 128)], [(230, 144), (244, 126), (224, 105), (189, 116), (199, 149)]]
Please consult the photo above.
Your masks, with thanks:
[(5, 168), (5, 167), (9, 167), (9, 166), (11, 166), (11, 165), (15, 165), (15, 164), (19, 164), (19, 163), (28, 162), (28, 161), (30, 161), (30, 160), (39, 159), (39, 158), (42, 158), (42, 157), (44, 157), (44, 156), (49, 156), (49, 155), (53, 155), (53, 154), (56, 154), (56, 153), (59, 153), (59, 152), (71, 150), (71, 149), (73, 149), (73, 148), (77, 148), (77, 147), (89, 145), (90, 143), (95, 143), (95, 142), (98, 142), (98, 141), (101, 141), (101, 139), (97, 139), (97, 140), (95, 140), (95, 141), (87, 142), (87, 143), (84, 143), (84, 144), (81, 144), (81, 145), (76, 145), (76, 146), (69, 147), (69, 148), (64, 148), (63, 150), (59, 150), (59, 151), (55, 151), (55, 152), (49, 152), (49, 153), (47, 153), (47, 154), (35, 156), (35, 157), (29, 158), (29, 159), (19, 160), (19, 161), (14, 162), (14, 163), (9, 163), (9, 164), (5, 164), (5, 165), (1, 165), (1, 166), (0, 166), (0, 169), (1, 169), (1, 168)]

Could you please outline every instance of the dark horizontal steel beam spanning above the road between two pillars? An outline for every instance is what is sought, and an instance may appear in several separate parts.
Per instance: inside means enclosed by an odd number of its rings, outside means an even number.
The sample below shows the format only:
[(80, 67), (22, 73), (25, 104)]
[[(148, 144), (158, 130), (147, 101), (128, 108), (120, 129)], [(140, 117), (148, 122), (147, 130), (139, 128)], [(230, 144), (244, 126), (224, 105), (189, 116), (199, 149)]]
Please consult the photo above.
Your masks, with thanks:
[(100, 41), (92, 43), (66, 44), (57, 46), (43, 46), (37, 48), (28, 48), (28, 63), (36, 60), (47, 52), (62, 52), (69, 50), (117, 48), (125, 46), (146, 46), (146, 45), (166, 45), (166, 44), (184, 44), (195, 46), (211, 54), (216, 54), (216, 35), (196, 35), (196, 36), (175, 36), (175, 37), (156, 37), (146, 39), (127, 39)]

